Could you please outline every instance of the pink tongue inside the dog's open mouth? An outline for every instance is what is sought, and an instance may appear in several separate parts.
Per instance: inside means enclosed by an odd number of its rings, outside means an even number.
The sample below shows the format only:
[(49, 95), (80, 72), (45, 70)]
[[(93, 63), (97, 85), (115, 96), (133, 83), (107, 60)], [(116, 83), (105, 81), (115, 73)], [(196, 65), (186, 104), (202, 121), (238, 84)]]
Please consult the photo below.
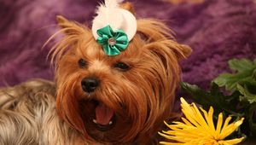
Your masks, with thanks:
[(96, 107), (96, 121), (100, 125), (108, 125), (110, 119), (113, 117), (113, 110), (103, 103)]

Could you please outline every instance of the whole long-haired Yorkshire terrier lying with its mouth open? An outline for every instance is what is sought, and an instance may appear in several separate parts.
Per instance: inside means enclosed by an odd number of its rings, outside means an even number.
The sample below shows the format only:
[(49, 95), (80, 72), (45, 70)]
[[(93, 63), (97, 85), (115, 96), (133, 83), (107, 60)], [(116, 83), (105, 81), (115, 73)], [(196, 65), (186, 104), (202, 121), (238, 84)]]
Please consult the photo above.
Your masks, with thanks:
[[(134, 14), (131, 3), (120, 9)], [(0, 90), (0, 144), (158, 143), (189, 46), (159, 20), (141, 19), (127, 48), (106, 55), (88, 26), (57, 22), (56, 34), (65, 35), (50, 51), (55, 84), (37, 79)]]

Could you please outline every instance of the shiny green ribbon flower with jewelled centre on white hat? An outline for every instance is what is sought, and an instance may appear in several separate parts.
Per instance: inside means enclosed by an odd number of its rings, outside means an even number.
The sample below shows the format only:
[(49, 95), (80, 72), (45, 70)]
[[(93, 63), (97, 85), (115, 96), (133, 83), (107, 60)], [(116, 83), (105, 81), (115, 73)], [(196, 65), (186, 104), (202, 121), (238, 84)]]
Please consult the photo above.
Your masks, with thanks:
[(102, 45), (106, 55), (119, 55), (129, 44), (128, 37), (121, 29), (113, 32), (108, 25), (97, 30), (99, 37), (96, 39), (98, 44)]

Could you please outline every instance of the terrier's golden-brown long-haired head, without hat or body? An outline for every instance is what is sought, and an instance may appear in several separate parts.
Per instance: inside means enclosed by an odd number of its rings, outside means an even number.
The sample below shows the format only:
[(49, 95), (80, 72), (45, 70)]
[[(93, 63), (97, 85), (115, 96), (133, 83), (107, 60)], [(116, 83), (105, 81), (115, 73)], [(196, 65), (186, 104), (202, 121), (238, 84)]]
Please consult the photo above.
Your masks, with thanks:
[(88, 27), (58, 22), (65, 36), (52, 54), (61, 118), (96, 142), (148, 141), (171, 113), (189, 47), (159, 21), (137, 20), (128, 48), (108, 56)]

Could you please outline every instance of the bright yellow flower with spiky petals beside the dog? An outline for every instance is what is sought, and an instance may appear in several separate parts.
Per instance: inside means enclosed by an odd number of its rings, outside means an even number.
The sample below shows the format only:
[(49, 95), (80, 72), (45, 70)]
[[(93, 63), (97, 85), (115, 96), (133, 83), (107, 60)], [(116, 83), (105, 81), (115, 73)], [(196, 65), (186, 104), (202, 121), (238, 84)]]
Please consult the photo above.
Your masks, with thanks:
[[(218, 123), (215, 128), (212, 115), (213, 108), (210, 107), (209, 112), (201, 109), (203, 116), (196, 107), (195, 103), (189, 105), (183, 98), (180, 99), (182, 104), (182, 112), (185, 118), (182, 118), (183, 122), (173, 122), (173, 125), (167, 125), (171, 131), (163, 131), (161, 136), (166, 137), (174, 142), (160, 142), (166, 145), (233, 145), (241, 142), (244, 137), (224, 140), (233, 131), (236, 131), (237, 127), (242, 124), (243, 118), (230, 123), (231, 117), (223, 120), (223, 114), (218, 114)], [(224, 125), (223, 125), (224, 121)]]

